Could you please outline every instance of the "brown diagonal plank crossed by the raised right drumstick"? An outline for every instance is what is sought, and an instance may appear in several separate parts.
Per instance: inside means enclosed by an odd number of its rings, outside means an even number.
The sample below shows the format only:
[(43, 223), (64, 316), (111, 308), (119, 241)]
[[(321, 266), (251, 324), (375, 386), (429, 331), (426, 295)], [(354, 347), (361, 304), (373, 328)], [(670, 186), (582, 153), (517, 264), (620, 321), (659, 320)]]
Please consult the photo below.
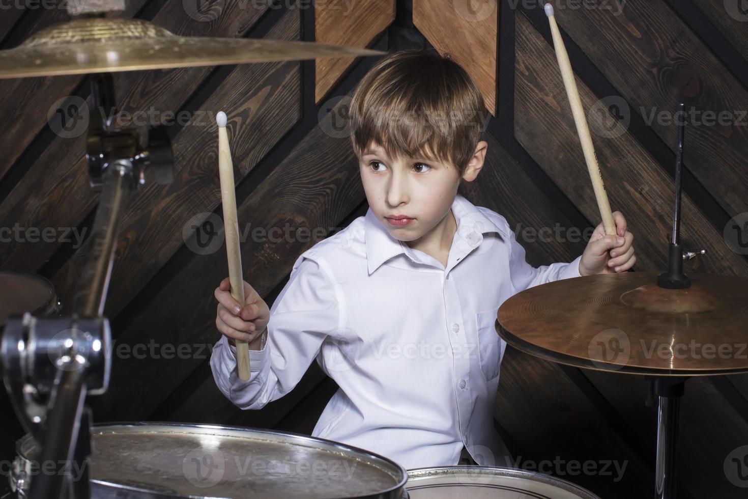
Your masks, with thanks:
[[(558, 65), (554, 64), (554, 49), (527, 17), (517, 19), (515, 136), (596, 225), (600, 214)], [(583, 107), (592, 108), (598, 97), (579, 79), (577, 87)], [(604, 129), (606, 121), (600, 114), (588, 113), (587, 119), (592, 129)], [(637, 269), (664, 269), (675, 196), (672, 178), (631, 134), (616, 138), (595, 135), (593, 141), (610, 205), (623, 212), (636, 237)], [(696, 262), (699, 272), (748, 276), (748, 262), (730, 251), (721, 233), (688, 195), (683, 196), (681, 212), (684, 245), (707, 250)]]

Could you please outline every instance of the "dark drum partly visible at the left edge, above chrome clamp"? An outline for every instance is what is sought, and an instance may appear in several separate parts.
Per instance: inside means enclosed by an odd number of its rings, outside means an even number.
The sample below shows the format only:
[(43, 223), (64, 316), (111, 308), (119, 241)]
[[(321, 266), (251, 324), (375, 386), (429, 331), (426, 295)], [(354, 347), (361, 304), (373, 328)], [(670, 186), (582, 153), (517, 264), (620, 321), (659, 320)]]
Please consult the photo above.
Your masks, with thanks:
[(16, 270), (0, 270), (0, 329), (8, 316), (31, 312), (50, 316), (60, 312), (52, 283), (40, 275)]

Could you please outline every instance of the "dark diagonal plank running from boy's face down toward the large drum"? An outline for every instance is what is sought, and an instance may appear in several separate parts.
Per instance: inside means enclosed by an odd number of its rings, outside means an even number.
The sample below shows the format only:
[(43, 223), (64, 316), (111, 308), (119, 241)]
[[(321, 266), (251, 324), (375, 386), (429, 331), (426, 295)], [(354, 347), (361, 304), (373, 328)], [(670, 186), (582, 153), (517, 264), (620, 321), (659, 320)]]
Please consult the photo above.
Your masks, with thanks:
[[(321, 227), (327, 233), (361, 203), (364, 190), (358, 162), (352, 159), (351, 148), (345, 147), (348, 138), (334, 138), (325, 132), (330, 129), (330, 116), (239, 206), (242, 226), (265, 227), (270, 231), (282, 230), (288, 224), (292, 230), (305, 227), (315, 233)], [(323, 156), (324, 161), (319, 159)], [(290, 235), (290, 242), (285, 237), (280, 240), (251, 237), (242, 245), (245, 280), (260, 295), (272, 290), (298, 255), (313, 245), (313, 240), (295, 237), (293, 231)], [(118, 343), (134, 346), (153, 341), (156, 345), (212, 346), (218, 340), (213, 290), (225, 275), (225, 252), (196, 255), (132, 318), (117, 338)], [(186, 295), (184, 290), (191, 293)], [(180, 321), (175, 322), (174, 317), (180, 317)], [(159, 356), (114, 358), (110, 390), (96, 400), (95, 414), (122, 420), (147, 417), (164, 394), (177, 388), (202, 360), (191, 357), (166, 360)], [(156, 378), (158, 384), (153, 383)]]

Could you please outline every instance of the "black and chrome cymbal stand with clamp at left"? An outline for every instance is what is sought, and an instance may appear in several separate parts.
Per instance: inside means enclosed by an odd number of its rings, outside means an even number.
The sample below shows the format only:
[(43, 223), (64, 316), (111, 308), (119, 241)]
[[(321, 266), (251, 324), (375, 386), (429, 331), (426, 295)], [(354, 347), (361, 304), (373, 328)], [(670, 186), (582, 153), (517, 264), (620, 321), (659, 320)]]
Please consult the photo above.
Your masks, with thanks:
[[(111, 73), (91, 75), (93, 109), (86, 140), (91, 186), (100, 189), (90, 254), (70, 317), (9, 319), (1, 343), (4, 384), (19, 420), (41, 444), (45, 472), (31, 480), (29, 497), (88, 498), (91, 411), (86, 395), (105, 393), (111, 370), (111, 331), (104, 313), (117, 229), (129, 195), (146, 182), (171, 183), (173, 156), (163, 127), (141, 146), (137, 129), (113, 129)], [(108, 116), (108, 117), (105, 117)], [(70, 466), (86, 471), (73, 480)], [(54, 472), (48, 472), (54, 468)]]

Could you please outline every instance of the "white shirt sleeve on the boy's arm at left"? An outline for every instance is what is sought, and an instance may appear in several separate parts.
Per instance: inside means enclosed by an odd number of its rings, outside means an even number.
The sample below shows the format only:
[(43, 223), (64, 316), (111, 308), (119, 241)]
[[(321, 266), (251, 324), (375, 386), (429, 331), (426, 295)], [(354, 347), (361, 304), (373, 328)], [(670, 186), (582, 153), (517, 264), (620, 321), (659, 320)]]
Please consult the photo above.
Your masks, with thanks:
[[(302, 261), (303, 260), (303, 261)], [(242, 409), (262, 408), (291, 391), (340, 321), (337, 285), (324, 264), (296, 260), (289, 281), (270, 309), (260, 350), (249, 351), (250, 377), (239, 379), (236, 347), (227, 337), (215, 343), (210, 368), (218, 389)]]

